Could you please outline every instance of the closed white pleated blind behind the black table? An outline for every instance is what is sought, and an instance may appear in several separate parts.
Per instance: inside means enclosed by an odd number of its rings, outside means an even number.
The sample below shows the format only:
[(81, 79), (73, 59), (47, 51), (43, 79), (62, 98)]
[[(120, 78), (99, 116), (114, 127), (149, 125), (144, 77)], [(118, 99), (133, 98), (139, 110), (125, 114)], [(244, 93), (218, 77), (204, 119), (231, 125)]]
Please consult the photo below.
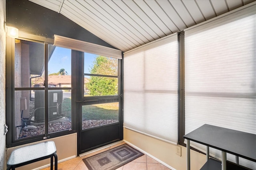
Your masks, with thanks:
[[(185, 134), (205, 123), (256, 134), (255, 9), (185, 30)], [(210, 154), (221, 157), (216, 149)], [(240, 158), (240, 164), (256, 169), (255, 162)]]

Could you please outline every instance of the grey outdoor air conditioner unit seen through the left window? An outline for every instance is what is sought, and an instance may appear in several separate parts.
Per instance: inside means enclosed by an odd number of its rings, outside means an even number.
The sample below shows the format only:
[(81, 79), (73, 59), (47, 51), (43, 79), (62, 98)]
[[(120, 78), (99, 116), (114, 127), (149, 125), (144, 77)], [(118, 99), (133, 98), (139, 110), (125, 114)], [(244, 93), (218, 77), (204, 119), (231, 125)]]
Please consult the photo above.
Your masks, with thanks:
[[(34, 122), (44, 122), (44, 90), (35, 90)], [(62, 117), (62, 90), (48, 90), (48, 120)]]

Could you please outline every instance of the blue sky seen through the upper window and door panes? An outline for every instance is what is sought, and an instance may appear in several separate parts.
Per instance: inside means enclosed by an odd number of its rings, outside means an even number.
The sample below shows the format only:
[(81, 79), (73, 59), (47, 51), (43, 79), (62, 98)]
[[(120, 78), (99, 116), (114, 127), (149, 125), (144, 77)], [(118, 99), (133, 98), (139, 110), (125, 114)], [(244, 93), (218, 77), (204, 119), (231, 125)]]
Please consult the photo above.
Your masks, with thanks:
[[(97, 55), (84, 53), (84, 72), (89, 73), (89, 68)], [(64, 68), (68, 75), (71, 75), (71, 50), (62, 47), (56, 47), (52, 53), (52, 57), (48, 62), (48, 74), (59, 72)]]

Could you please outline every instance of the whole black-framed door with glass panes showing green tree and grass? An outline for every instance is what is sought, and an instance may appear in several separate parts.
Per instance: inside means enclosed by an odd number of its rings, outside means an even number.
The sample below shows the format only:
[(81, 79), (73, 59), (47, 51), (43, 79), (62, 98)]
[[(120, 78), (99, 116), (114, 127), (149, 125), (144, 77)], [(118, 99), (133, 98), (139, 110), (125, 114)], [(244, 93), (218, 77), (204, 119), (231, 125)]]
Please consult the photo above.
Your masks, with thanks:
[(74, 79), (78, 154), (123, 138), (122, 60), (77, 52)]

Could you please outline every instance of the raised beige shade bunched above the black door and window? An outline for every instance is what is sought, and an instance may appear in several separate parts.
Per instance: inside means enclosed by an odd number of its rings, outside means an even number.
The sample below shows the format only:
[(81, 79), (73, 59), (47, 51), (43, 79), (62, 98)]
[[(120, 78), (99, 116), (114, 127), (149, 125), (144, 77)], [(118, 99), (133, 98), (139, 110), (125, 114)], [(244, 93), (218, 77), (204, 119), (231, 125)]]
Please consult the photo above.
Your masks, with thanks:
[(110, 47), (105, 47), (102, 45), (62, 37), (60, 35), (54, 35), (54, 45), (76, 51), (122, 59), (122, 51), (118, 49), (112, 49)]

